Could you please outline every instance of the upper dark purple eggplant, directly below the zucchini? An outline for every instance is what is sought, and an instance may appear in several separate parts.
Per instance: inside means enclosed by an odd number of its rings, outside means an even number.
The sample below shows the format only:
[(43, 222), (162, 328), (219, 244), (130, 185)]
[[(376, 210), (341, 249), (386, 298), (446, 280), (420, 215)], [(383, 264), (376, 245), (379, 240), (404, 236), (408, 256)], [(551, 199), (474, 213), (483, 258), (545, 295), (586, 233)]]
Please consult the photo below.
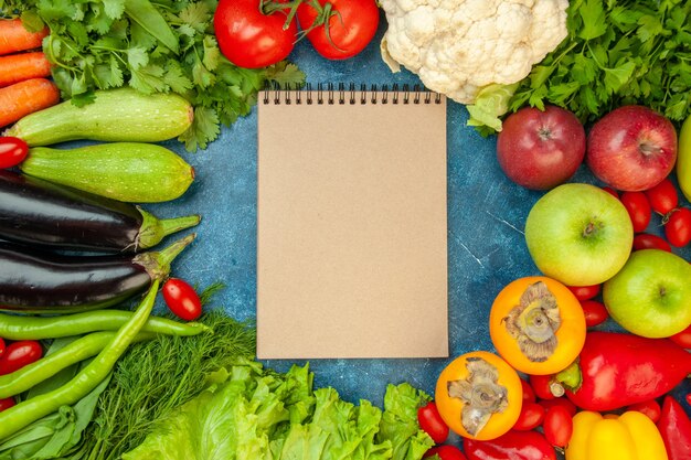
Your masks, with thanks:
[(64, 250), (137, 253), (200, 222), (159, 220), (131, 203), (0, 171), (0, 238)]

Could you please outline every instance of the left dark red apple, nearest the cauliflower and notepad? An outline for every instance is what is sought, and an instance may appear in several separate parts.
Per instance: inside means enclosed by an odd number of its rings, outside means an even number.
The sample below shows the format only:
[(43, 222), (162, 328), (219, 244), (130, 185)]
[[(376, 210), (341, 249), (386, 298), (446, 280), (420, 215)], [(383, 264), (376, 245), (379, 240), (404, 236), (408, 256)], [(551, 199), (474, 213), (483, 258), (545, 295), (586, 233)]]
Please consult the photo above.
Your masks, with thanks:
[(571, 111), (546, 106), (511, 114), (497, 139), (497, 159), (509, 179), (532, 190), (566, 182), (585, 156), (585, 129)]

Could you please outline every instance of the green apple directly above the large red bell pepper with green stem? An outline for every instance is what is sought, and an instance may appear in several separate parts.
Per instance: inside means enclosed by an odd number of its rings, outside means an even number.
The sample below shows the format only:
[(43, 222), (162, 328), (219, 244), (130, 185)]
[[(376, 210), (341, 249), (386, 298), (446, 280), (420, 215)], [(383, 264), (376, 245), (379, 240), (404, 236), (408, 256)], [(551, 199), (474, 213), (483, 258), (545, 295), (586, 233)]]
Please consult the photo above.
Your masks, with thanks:
[(629, 332), (667, 338), (691, 324), (691, 265), (660, 249), (642, 249), (603, 286), (609, 315)]

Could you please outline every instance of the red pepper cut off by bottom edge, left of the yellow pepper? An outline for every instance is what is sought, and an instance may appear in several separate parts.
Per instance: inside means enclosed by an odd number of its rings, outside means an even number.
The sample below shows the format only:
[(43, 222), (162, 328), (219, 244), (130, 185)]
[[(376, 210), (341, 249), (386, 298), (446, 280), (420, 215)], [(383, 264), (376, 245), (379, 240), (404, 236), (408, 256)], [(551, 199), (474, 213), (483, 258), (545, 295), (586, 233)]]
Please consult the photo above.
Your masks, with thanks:
[(488, 441), (464, 438), (464, 451), (468, 460), (556, 460), (554, 448), (540, 431), (509, 430)]

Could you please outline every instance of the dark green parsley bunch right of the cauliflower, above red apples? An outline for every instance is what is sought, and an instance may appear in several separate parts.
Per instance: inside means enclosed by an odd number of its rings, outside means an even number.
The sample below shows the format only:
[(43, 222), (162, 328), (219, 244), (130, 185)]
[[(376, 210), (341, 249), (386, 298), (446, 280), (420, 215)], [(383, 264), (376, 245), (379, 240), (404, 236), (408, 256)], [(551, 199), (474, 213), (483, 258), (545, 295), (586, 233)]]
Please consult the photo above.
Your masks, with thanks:
[(555, 104), (593, 122), (627, 104), (679, 124), (691, 115), (691, 2), (571, 0), (568, 36), (523, 79), (509, 100)]

